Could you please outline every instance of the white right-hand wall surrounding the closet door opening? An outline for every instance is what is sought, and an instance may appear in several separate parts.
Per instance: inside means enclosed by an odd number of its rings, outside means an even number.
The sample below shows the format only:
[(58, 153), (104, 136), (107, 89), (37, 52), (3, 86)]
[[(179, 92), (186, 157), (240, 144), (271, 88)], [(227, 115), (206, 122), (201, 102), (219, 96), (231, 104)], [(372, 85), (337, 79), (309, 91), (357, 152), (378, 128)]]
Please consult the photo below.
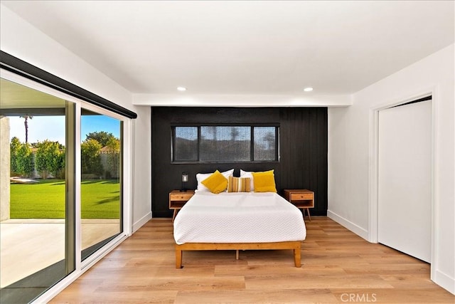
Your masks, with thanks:
[(328, 109), (328, 215), (371, 239), (370, 150), (373, 110), (433, 94), (434, 248), (432, 279), (455, 293), (454, 45), (353, 95), (348, 108)]

